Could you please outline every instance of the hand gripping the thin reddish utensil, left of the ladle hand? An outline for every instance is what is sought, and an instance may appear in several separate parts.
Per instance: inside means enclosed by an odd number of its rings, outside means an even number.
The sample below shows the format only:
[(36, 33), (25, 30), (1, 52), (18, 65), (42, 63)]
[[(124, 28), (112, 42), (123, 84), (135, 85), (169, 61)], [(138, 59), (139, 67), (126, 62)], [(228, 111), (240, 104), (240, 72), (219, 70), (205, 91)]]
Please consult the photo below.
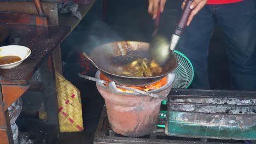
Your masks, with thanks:
[(166, 0), (148, 0), (148, 13), (153, 16), (153, 20), (158, 15), (158, 9), (160, 13), (164, 11)]

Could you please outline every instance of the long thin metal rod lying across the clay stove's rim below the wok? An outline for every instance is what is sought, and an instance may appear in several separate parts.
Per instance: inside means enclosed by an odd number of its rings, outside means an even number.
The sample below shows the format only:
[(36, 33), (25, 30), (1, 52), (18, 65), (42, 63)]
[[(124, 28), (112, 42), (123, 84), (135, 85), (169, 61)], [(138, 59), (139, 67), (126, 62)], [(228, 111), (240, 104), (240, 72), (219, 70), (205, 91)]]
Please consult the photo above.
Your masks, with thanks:
[[(100, 82), (100, 83), (103, 83), (103, 84), (110, 83), (110, 82), (107, 82), (107, 81), (104, 81), (104, 80), (100, 80), (100, 79), (96, 79), (94, 77), (87, 76), (87, 75), (78, 74), (78, 76), (79, 77), (83, 77), (84, 79), (88, 79), (88, 80), (95, 81), (95, 82)], [(114, 81), (111, 81), (111, 82), (114, 82)], [(127, 89), (127, 90), (135, 92), (135, 93), (143, 94), (143, 95), (146, 95), (146, 96), (149, 96), (149, 97), (153, 97), (153, 98), (157, 98), (157, 99), (168, 100), (167, 97), (164, 97), (162, 95), (158, 95), (158, 94), (155, 94), (155, 93), (144, 92), (144, 91), (141, 91), (141, 90), (136, 89), (136, 88), (121, 86), (121, 85), (118, 85), (117, 83), (114, 83), (114, 84), (115, 84), (115, 86), (117, 86), (119, 88)]]

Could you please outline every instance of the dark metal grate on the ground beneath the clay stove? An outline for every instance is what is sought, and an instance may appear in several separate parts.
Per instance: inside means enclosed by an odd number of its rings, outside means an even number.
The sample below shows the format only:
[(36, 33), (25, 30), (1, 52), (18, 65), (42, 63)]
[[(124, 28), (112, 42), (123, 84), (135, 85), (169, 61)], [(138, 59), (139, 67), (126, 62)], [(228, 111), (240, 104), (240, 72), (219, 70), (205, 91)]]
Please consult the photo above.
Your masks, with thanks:
[[(163, 124), (164, 120), (159, 119), (159, 124)], [(98, 123), (98, 127), (94, 137), (95, 144), (103, 144), (103, 143), (125, 143), (125, 144), (143, 144), (143, 143), (158, 143), (158, 144), (219, 144), (219, 143), (246, 143), (245, 141), (238, 141), (238, 140), (217, 140), (217, 139), (199, 139), (199, 138), (188, 138), (188, 137), (176, 137), (176, 136), (167, 136), (165, 134), (164, 128), (158, 128), (156, 131), (150, 135), (146, 135), (143, 137), (126, 137), (123, 135), (119, 135), (115, 133), (109, 126), (106, 107), (103, 107), (102, 114), (100, 121)], [(252, 143), (252, 142), (250, 142)]]

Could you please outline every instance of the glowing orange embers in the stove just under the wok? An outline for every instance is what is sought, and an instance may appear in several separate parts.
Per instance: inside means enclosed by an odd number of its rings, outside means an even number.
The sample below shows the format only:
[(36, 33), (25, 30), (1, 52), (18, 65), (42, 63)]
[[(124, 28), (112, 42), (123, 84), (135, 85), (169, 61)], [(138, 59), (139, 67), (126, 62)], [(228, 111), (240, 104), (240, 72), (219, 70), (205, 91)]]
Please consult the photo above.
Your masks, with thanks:
[[(111, 80), (109, 80), (106, 76), (104, 76), (102, 73), (100, 74), (100, 79), (101, 79), (101, 80), (108, 81), (108, 82), (111, 81)], [(155, 82), (155, 83), (153, 83), (153, 84), (151, 84), (151, 85), (148, 85), (148, 86), (144, 86), (144, 87), (129, 86), (129, 87), (131, 87), (131, 88), (136, 88), (136, 89), (139, 89), (139, 90), (148, 92), (148, 91), (152, 91), (152, 90), (154, 90), (154, 89), (158, 89), (158, 88), (164, 86), (166, 83), (167, 83), (167, 79), (166, 79), (166, 77), (164, 77), (164, 78), (161, 79), (160, 81)], [(107, 85), (108, 85), (108, 84), (106, 84), (105, 86), (107, 86)], [(119, 91), (121, 91), (121, 92), (132, 93), (132, 91), (129, 91), (129, 90), (127, 90), (127, 89), (123, 89), (123, 88), (117, 88), (117, 89), (118, 89)]]

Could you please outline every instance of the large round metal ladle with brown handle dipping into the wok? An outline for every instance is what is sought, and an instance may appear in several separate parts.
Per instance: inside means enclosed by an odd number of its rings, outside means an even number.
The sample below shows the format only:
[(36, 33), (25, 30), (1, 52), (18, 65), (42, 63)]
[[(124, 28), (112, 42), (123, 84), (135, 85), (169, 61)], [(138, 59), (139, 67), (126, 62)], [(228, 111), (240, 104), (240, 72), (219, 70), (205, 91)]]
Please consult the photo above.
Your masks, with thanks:
[(171, 51), (176, 48), (179, 38), (183, 34), (184, 28), (187, 25), (188, 17), (191, 14), (192, 9), (189, 7), (193, 1), (194, 0), (187, 0), (185, 3), (182, 16), (172, 34), (170, 43), (168, 42), (167, 38), (162, 35), (157, 35), (152, 41), (150, 41), (150, 57), (151, 59), (155, 59), (155, 61), (160, 65), (163, 65), (167, 61)]

